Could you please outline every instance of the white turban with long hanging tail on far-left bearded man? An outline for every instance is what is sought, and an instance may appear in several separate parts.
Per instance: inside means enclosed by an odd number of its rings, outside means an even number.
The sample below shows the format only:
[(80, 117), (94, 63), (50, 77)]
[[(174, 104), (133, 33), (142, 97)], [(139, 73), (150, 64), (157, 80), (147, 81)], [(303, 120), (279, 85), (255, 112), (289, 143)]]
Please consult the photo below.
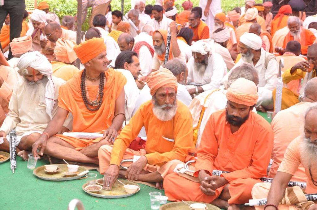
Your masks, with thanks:
[(39, 71), (42, 75), (47, 76), (49, 81), (45, 87), (45, 107), (46, 113), (52, 119), (52, 110), (55, 104), (55, 90), (51, 76), (53, 74), (52, 65), (49, 63), (49, 60), (38, 51), (26, 52), (20, 57), (17, 67), (21, 71), (27, 67), (31, 67)]

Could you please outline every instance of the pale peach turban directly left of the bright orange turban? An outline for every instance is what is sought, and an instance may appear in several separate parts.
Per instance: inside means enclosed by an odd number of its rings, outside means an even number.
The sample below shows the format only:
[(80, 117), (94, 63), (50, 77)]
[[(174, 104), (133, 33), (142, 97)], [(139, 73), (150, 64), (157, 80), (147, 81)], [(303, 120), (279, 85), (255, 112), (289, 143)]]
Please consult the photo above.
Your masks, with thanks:
[(77, 59), (74, 52), (76, 43), (73, 40), (58, 39), (54, 48), (55, 58), (63, 63), (73, 63)]

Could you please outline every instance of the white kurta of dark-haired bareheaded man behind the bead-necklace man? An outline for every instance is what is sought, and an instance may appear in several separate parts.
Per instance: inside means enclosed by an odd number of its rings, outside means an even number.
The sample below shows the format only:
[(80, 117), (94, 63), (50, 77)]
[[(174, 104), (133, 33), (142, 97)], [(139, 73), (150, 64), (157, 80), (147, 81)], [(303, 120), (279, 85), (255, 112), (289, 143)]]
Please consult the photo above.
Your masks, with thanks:
[(126, 84), (124, 85), (124, 111), (126, 114), (126, 121), (128, 121), (132, 117), (135, 102), (140, 94), (140, 90), (129, 70), (116, 69), (116, 71), (120, 71), (126, 77)]

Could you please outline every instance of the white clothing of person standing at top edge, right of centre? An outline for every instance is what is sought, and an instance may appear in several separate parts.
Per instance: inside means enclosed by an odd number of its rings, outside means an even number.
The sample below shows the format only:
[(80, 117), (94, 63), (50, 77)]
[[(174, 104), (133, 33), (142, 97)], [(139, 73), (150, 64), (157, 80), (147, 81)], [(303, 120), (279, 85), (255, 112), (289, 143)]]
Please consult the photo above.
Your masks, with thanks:
[(209, 15), (206, 17), (204, 15), (204, 9), (206, 8), (207, 0), (200, 0), (199, 1), (199, 7), (203, 9), (203, 16), (201, 19), (204, 20), (204, 22), (209, 27), (209, 33), (213, 31), (214, 25), (215, 25), (215, 15), (217, 13), (222, 12), (220, 0), (212, 0), (210, 7), (209, 7)]

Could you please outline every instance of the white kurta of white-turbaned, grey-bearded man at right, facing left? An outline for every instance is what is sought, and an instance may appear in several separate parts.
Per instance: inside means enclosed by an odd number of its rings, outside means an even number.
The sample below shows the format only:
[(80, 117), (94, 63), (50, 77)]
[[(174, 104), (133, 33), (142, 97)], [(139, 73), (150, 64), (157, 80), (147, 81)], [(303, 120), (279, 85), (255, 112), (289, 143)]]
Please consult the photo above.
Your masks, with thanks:
[[(265, 108), (273, 108), (273, 96), (272, 91), (276, 88), (276, 80), (277, 80), (277, 71), (278, 64), (275, 59), (270, 59), (267, 63), (267, 68), (265, 68), (265, 60), (266, 57), (271, 54), (266, 52), (263, 48), (261, 48), (261, 56), (259, 61), (254, 66), (258, 75), (259, 75), (259, 84), (258, 84), (258, 102), (256, 103), (256, 107), (262, 105)], [(271, 54), (272, 55), (272, 54)], [(240, 59), (236, 65), (232, 68), (243, 64), (243, 59)], [(253, 65), (253, 62), (251, 62)], [(230, 72), (223, 78), (222, 83), (228, 81), (228, 77)]]

